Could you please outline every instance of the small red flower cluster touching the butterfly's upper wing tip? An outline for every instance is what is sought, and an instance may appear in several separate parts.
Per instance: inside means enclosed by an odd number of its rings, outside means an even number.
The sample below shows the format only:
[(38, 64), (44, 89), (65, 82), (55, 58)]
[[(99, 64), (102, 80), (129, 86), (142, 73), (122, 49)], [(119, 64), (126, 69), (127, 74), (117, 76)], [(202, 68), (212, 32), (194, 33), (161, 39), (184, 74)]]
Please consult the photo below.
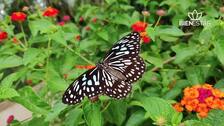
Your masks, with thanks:
[(134, 32), (139, 32), (141, 35), (141, 39), (144, 43), (149, 43), (151, 41), (151, 38), (147, 35), (145, 32), (145, 29), (147, 28), (147, 23), (137, 21), (131, 26), (132, 30)]

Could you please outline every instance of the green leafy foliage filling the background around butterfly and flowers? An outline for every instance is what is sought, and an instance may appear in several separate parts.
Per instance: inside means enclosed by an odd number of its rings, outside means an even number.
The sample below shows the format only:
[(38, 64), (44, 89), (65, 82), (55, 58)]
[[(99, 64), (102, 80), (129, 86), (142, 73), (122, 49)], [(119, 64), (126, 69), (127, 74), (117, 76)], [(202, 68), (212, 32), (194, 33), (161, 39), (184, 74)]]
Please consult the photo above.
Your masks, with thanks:
[[(56, 18), (42, 16), (48, 6), (60, 11)], [(180, 101), (184, 88), (195, 84), (224, 90), (223, 6), (222, 0), (0, 0), (0, 29), (8, 33), (0, 43), (0, 99), (33, 113), (11, 125), (221, 126), (221, 110), (201, 119), (193, 112), (176, 112), (172, 104)], [(166, 14), (159, 16), (160, 9)], [(194, 9), (209, 25), (179, 26)], [(12, 12), (22, 10), (28, 15), (22, 24), (25, 36), (20, 24), (10, 20)], [(70, 21), (58, 25), (65, 15)], [(148, 23), (152, 41), (141, 45), (147, 71), (130, 96), (62, 104), (63, 91), (85, 71), (77, 66), (99, 62), (136, 21)], [(13, 38), (26, 39), (28, 46), (15, 44)]]

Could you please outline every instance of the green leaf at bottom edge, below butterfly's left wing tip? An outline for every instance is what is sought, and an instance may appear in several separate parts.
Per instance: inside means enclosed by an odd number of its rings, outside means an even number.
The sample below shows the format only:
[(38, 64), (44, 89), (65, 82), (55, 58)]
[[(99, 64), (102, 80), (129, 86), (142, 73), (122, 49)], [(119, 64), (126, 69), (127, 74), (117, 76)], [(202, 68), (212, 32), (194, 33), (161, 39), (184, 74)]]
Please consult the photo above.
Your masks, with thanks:
[(65, 126), (78, 126), (82, 121), (83, 111), (81, 108), (74, 108), (68, 112), (68, 116), (65, 119)]

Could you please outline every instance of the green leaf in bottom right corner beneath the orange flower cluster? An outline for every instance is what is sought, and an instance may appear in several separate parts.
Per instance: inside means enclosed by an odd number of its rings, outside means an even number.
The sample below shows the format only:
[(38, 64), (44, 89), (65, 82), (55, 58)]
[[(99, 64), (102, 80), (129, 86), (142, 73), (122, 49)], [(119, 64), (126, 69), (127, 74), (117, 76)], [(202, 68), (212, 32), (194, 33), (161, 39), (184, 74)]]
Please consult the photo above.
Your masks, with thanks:
[(224, 111), (215, 109), (211, 110), (208, 116), (202, 119), (204, 123), (210, 124), (211, 126), (224, 126), (223, 120)]

